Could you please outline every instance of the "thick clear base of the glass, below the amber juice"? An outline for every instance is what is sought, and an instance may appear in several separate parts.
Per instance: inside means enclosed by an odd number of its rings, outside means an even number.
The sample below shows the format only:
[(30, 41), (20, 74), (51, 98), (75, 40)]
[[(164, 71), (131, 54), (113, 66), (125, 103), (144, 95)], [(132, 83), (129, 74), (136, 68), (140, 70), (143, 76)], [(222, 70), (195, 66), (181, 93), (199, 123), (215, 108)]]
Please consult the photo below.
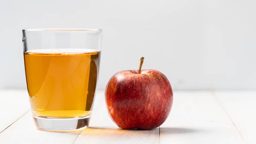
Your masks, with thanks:
[(88, 127), (91, 116), (75, 118), (49, 118), (33, 116), (36, 128), (43, 131), (76, 131)]

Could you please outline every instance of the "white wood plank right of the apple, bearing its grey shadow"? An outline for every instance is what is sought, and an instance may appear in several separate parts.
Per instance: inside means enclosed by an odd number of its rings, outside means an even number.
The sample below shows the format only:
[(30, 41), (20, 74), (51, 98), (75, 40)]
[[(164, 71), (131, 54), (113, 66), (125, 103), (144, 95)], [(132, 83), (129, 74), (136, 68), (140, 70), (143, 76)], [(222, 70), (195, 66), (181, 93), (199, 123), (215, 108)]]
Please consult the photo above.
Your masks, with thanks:
[(174, 92), (173, 107), (160, 126), (160, 144), (243, 144), (239, 132), (210, 92)]

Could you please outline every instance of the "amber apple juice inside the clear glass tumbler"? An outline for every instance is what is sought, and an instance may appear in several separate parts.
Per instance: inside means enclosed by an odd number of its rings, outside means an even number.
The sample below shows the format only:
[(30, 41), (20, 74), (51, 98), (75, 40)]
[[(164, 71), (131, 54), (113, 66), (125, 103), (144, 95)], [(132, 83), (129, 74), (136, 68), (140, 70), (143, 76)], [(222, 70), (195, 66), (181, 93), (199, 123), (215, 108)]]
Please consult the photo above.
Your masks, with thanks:
[(34, 116), (73, 118), (91, 114), (100, 52), (35, 50), (24, 52), (24, 61)]

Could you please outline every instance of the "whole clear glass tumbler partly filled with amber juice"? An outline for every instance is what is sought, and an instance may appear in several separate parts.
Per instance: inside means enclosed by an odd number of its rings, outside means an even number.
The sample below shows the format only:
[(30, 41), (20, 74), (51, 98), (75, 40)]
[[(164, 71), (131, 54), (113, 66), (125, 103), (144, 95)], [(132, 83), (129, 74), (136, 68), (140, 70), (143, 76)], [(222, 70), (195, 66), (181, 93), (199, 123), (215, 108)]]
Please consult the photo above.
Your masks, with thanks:
[(24, 62), (37, 129), (88, 127), (98, 81), (101, 29), (24, 29)]

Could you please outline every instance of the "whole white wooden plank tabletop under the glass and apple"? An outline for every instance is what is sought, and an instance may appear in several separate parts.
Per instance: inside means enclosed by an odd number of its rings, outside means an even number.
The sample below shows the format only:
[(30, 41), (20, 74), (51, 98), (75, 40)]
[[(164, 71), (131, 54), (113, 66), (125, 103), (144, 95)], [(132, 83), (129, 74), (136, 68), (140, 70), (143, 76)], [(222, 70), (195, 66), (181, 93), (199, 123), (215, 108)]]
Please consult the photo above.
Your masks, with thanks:
[(37, 130), (26, 90), (0, 90), (1, 144), (256, 144), (256, 91), (174, 91), (168, 119), (153, 130), (123, 130), (108, 116), (98, 91), (89, 128)]

